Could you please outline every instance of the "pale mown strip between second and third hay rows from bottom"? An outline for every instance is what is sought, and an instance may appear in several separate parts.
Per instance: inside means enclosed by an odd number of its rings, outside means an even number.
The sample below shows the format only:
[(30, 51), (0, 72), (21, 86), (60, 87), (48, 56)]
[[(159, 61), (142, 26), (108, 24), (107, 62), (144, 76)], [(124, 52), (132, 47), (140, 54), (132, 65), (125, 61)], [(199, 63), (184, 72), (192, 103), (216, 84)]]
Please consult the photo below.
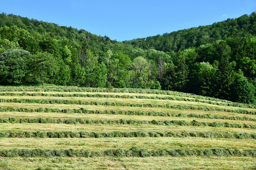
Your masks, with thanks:
[(255, 133), (255, 129), (248, 128), (224, 128), (209, 126), (165, 126), (152, 124), (139, 125), (104, 125), (104, 124), (54, 124), (54, 123), (0, 123), (0, 132), (17, 131), (17, 132), (48, 132), (48, 131), (87, 131), (87, 132), (113, 132), (113, 131), (159, 131), (159, 132), (236, 132), (236, 133)]

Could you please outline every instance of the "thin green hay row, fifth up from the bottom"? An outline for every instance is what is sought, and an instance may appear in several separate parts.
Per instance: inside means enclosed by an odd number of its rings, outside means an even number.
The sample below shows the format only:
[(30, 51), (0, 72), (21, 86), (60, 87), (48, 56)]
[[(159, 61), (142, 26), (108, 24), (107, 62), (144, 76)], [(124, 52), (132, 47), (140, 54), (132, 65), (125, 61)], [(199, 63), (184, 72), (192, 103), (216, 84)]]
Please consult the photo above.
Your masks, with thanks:
[(131, 104), (121, 102), (100, 102), (100, 101), (80, 101), (80, 100), (41, 100), (41, 99), (0, 99), (2, 103), (37, 103), (37, 104), (77, 104), (77, 105), (98, 105), (98, 106), (121, 106), (121, 107), (151, 107), (151, 108), (169, 108), (169, 109), (191, 109), (204, 111), (218, 111), (218, 112), (235, 112), (241, 114), (256, 115), (256, 112), (247, 111), (244, 109), (224, 109), (214, 107), (197, 107), (190, 105), (169, 105), (169, 104)]

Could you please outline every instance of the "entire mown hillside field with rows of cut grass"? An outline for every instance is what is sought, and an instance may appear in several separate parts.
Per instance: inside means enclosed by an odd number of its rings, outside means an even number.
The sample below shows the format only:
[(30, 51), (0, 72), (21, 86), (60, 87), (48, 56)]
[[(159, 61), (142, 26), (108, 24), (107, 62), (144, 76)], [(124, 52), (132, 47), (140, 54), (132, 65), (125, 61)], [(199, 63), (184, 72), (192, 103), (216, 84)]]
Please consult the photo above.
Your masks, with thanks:
[(256, 106), (115, 88), (0, 87), (0, 169), (256, 169)]

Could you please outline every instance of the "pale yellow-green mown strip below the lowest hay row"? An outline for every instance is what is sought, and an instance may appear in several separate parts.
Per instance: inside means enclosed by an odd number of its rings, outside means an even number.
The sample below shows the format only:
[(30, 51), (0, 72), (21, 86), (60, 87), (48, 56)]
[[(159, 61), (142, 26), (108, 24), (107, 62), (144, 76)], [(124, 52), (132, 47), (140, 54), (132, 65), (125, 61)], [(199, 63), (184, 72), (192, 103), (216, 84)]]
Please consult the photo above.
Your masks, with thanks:
[(96, 157), (96, 158), (0, 158), (0, 169), (10, 170), (91, 170), (91, 169), (129, 169), (129, 170), (235, 170), (255, 169), (255, 158), (247, 157)]

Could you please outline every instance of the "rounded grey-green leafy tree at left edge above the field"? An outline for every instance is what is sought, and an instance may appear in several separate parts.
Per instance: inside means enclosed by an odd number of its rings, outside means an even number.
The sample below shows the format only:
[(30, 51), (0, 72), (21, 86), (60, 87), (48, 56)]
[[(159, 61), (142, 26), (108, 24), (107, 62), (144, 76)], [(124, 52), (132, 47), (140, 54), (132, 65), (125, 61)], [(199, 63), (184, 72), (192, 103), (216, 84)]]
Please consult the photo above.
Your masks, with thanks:
[(25, 50), (7, 50), (0, 55), (0, 82), (5, 85), (26, 82), (27, 63), (31, 54)]

